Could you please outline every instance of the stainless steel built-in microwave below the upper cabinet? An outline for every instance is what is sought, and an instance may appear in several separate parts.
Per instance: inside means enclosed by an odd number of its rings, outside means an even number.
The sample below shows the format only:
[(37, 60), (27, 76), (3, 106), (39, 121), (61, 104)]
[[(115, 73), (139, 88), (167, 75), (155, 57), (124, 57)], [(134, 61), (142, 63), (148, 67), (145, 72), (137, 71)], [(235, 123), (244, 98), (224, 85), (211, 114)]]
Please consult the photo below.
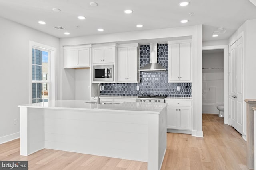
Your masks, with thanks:
[(114, 65), (96, 65), (93, 68), (93, 81), (114, 81)]

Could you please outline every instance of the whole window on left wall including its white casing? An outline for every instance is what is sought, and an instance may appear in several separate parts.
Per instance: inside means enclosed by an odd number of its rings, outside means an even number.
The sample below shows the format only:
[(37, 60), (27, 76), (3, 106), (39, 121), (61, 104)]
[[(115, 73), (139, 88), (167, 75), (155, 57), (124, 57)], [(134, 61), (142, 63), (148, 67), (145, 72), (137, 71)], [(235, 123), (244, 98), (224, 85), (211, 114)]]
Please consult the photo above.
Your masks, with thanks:
[(54, 47), (29, 41), (29, 103), (55, 100), (56, 51)]

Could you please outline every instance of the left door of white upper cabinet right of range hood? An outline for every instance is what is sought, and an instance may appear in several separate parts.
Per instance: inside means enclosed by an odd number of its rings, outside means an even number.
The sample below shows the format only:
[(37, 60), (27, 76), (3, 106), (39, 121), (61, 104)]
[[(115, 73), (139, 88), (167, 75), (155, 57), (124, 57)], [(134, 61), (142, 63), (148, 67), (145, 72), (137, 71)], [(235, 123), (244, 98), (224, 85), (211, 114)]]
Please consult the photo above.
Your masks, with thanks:
[(169, 45), (169, 81), (180, 80), (180, 44)]

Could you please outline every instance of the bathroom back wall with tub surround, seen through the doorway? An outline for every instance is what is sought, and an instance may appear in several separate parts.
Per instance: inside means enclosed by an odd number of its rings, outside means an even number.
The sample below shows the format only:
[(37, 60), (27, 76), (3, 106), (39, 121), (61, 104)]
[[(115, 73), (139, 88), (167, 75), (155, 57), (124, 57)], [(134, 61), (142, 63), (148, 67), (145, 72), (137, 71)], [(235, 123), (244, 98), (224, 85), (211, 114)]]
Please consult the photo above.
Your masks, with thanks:
[(216, 106), (223, 105), (224, 98), (224, 74), (223, 74), (223, 52), (203, 53), (202, 70), (202, 110), (203, 113), (218, 114)]

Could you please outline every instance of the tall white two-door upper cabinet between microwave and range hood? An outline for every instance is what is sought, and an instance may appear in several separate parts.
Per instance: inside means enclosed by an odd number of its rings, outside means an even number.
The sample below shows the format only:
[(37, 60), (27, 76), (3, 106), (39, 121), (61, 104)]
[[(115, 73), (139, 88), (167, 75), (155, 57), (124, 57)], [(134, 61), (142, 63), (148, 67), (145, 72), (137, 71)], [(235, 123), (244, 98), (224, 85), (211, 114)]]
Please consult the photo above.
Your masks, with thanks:
[[(127, 47), (125, 47), (127, 46)], [(135, 47), (131, 47), (135, 46)], [(118, 48), (118, 82), (138, 82), (138, 44), (122, 44)]]

